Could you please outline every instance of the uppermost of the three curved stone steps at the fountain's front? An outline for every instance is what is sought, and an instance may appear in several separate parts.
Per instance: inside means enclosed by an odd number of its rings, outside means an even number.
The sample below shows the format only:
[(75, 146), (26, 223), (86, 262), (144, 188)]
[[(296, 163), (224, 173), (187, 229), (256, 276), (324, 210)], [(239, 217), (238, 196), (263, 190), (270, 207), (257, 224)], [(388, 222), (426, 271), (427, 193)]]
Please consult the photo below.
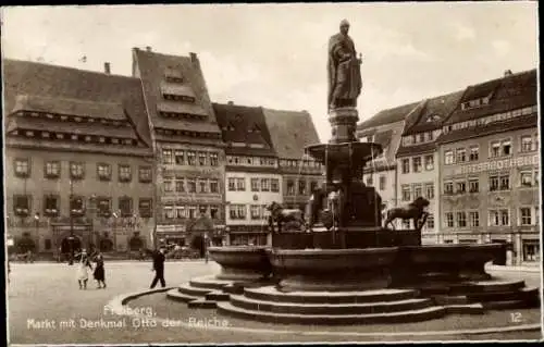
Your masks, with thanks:
[(363, 303), (397, 301), (418, 296), (415, 289), (375, 289), (360, 292), (280, 292), (274, 286), (245, 288), (244, 296), (255, 300), (304, 303)]

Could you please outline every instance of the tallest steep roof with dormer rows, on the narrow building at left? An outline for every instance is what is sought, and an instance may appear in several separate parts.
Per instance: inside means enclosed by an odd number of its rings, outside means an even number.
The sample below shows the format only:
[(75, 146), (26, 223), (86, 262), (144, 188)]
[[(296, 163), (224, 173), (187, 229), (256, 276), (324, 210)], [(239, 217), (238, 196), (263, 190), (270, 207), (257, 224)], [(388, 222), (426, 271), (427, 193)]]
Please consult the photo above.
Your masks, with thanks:
[[(195, 120), (193, 122), (166, 121), (170, 129), (185, 131), (188, 126), (191, 132), (221, 134), (196, 54), (191, 54), (191, 57), (169, 55), (134, 48), (133, 59), (133, 71), (141, 79), (147, 110), (153, 126), (164, 125), (164, 122), (161, 121), (163, 117), (157, 112), (160, 104), (161, 108), (171, 108), (172, 112), (194, 113), (196, 111), (200, 114), (202, 113), (201, 110), (203, 110), (207, 115), (206, 120)], [(174, 72), (183, 78), (178, 89), (182, 88), (187, 91), (190, 88), (196, 99), (195, 104), (186, 101), (166, 103), (163, 99), (161, 87), (172, 86), (172, 84), (165, 84), (165, 74)]]

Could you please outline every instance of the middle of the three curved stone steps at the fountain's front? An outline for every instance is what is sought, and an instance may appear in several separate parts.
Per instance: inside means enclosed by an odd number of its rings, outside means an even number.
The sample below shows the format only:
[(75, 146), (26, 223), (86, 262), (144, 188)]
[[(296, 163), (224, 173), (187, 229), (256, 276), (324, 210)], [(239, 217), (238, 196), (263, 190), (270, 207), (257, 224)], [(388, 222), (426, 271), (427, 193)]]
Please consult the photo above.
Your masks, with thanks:
[(406, 299), (399, 301), (376, 301), (366, 303), (301, 303), (301, 302), (273, 302), (250, 299), (244, 296), (231, 296), (234, 307), (252, 311), (265, 311), (292, 314), (372, 314), (384, 312), (399, 312), (418, 310), (431, 307), (431, 299)]

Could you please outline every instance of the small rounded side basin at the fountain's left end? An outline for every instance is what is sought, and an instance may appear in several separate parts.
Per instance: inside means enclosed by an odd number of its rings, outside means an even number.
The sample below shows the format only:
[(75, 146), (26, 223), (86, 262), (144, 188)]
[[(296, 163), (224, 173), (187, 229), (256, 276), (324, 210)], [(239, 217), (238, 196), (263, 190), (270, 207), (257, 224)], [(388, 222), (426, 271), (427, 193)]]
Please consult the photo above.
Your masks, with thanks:
[(272, 269), (262, 246), (210, 247), (210, 258), (221, 265), (215, 277), (227, 281), (256, 281), (270, 275)]

